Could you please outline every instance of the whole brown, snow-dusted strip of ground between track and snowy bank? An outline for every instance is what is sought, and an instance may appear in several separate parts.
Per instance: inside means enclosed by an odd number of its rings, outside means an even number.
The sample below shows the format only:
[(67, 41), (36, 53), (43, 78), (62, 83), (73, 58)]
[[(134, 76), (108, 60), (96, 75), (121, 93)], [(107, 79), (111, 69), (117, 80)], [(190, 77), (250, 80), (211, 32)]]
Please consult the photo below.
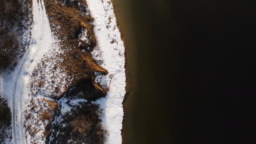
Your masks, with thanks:
[(108, 72), (91, 56), (96, 46), (93, 18), (85, 0), (44, 3), (58, 48), (44, 56), (30, 78), (26, 133), (32, 143), (103, 144), (107, 131), (101, 109), (92, 101), (106, 96), (94, 82), (95, 72)]

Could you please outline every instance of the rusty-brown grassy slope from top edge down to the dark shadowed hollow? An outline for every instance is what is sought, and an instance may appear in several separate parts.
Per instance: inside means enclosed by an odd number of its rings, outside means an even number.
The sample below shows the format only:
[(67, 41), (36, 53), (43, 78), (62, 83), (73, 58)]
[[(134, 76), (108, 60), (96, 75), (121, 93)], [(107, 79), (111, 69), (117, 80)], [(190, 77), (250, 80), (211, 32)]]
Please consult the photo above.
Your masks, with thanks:
[[(61, 73), (66, 73), (66, 83), (64, 84), (64, 90), (62, 85), (58, 85), (54, 80), (48, 82), (48, 85), (55, 85), (52, 88), (54, 91), (51, 94), (53, 99), (61, 99), (70, 88), (83, 83), (83, 86), (90, 85), (92, 91), (90, 97), (92, 99), (98, 99), (105, 96), (106, 92), (97, 83), (94, 83), (94, 72), (100, 72), (101, 74), (107, 74), (107, 70), (102, 68), (97, 61), (95, 61), (91, 55), (91, 51), (96, 45), (96, 38), (93, 32), (93, 18), (88, 15), (86, 3), (84, 0), (47, 0), (45, 1), (45, 9), (47, 11), (51, 29), (56, 37), (61, 40), (60, 49), (64, 53), (59, 53), (56, 59), (63, 59), (63, 61), (57, 61), (53, 72), (56, 69), (60, 69)], [(86, 39), (81, 40), (79, 35), (86, 31)], [(50, 59), (45, 59), (43, 63), (37, 67), (37, 70), (33, 72), (33, 76), (37, 76), (38, 72), (42, 72), (40, 79), (34, 79), (31, 83), (31, 89), (35, 90), (43, 87), (45, 77), (44, 63)], [(93, 94), (92, 92), (96, 93)], [(99, 96), (101, 93), (101, 96)], [(32, 93), (32, 95), (37, 93)], [(95, 96), (95, 98), (93, 98)], [(85, 96), (85, 98), (88, 96)]]

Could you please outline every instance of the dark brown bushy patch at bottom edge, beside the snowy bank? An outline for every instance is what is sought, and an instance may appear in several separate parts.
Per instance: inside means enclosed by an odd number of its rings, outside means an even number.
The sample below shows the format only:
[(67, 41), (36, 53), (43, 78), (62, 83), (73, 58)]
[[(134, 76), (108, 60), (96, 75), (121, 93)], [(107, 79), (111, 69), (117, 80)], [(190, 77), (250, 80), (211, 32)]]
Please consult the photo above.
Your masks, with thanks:
[[(53, 141), (61, 141), (67, 144), (69, 139), (73, 143), (81, 144), (104, 144), (107, 131), (101, 125), (99, 118), (100, 110), (96, 104), (83, 103), (81, 107), (73, 109), (70, 114), (64, 117), (66, 127), (61, 123), (53, 125)], [(56, 136), (59, 131), (59, 135)], [(53, 144), (53, 143), (52, 143)]]

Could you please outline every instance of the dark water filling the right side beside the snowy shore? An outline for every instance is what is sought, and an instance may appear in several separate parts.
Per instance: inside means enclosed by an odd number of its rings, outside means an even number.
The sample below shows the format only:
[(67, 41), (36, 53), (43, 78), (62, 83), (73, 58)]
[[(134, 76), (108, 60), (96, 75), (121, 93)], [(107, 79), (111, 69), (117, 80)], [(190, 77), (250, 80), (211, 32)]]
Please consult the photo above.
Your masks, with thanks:
[(124, 144), (255, 144), (251, 3), (113, 0), (127, 43)]

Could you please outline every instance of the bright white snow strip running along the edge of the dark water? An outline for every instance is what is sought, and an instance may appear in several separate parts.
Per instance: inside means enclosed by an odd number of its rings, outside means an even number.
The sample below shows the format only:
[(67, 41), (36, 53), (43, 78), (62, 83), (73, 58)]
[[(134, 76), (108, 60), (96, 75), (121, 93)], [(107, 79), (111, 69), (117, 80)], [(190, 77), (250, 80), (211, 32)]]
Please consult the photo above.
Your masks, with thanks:
[(123, 122), (123, 99), (125, 96), (125, 47), (117, 28), (113, 6), (110, 0), (87, 0), (91, 16), (95, 19), (94, 32), (97, 46), (93, 58), (103, 60), (102, 67), (108, 70), (106, 76), (98, 75), (96, 82), (109, 89), (106, 98), (95, 101), (104, 109), (102, 124), (108, 131), (106, 144), (121, 144)]

